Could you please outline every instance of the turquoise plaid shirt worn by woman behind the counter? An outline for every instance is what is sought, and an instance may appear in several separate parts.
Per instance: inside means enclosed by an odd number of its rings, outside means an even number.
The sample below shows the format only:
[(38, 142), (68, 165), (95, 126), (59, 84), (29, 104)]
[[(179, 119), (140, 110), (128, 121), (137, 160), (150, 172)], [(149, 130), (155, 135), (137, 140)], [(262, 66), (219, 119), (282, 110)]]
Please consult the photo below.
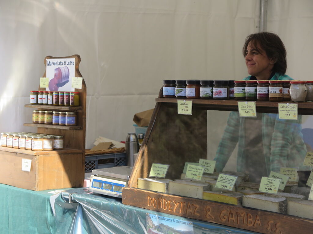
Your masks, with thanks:
[[(251, 76), (244, 78), (249, 80)], [(271, 80), (293, 80), (287, 75), (275, 73)], [(303, 168), (303, 161), (307, 152), (301, 133), (302, 115), (298, 120), (279, 119), (278, 114), (262, 114), (262, 139), (266, 170), (280, 172), (281, 167)], [(244, 121), (238, 112), (231, 112), (227, 126), (216, 152), (216, 170), (223, 171), (228, 158), (238, 143), (237, 171), (245, 171), (246, 157), (244, 155), (245, 137)]]

